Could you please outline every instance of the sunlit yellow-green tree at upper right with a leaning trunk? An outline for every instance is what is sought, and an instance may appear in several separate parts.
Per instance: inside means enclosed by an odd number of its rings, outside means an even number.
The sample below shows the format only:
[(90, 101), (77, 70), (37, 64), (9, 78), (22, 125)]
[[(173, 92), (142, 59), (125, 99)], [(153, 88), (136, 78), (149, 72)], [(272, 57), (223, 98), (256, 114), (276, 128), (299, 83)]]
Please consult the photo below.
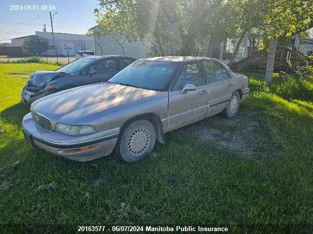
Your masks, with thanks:
[(259, 31), (268, 41), (266, 78), (271, 83), (278, 40), (286, 43), (291, 36), (313, 27), (313, 0), (225, 0), (221, 28), (228, 38), (238, 39), (233, 58), (246, 34)]

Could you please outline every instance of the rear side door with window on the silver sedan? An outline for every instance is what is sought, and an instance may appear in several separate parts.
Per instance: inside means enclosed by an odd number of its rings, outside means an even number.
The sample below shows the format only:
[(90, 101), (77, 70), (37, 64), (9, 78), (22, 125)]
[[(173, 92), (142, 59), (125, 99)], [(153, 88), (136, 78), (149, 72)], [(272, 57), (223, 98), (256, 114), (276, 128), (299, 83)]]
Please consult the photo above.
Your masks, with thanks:
[(209, 107), (205, 117), (222, 112), (235, 91), (235, 79), (215, 60), (203, 61), (209, 87)]

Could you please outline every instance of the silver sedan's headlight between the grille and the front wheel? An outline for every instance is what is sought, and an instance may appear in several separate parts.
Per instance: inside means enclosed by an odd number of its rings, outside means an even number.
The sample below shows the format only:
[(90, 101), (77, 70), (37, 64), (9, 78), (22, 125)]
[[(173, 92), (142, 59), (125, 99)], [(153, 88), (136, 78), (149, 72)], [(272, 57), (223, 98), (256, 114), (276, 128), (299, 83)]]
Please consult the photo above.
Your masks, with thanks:
[(55, 131), (69, 136), (85, 136), (96, 133), (96, 129), (91, 125), (71, 125), (65, 123), (57, 123)]

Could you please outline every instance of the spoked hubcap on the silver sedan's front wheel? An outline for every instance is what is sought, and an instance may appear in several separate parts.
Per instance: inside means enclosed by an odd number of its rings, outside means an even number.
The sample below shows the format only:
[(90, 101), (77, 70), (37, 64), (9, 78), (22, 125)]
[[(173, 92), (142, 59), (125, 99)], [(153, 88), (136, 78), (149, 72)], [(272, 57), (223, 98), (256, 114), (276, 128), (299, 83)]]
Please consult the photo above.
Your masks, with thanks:
[(151, 141), (150, 132), (145, 128), (137, 128), (133, 131), (127, 141), (128, 152), (133, 156), (143, 154), (149, 147)]

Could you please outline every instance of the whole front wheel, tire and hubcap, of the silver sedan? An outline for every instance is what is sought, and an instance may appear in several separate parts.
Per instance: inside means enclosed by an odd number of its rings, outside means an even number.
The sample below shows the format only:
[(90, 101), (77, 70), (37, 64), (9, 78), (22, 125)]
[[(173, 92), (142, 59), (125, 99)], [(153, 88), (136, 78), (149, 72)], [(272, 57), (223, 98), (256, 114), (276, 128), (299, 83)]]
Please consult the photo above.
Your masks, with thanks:
[(127, 126), (119, 137), (115, 150), (124, 162), (134, 163), (148, 156), (156, 144), (156, 129), (145, 119), (139, 119)]

